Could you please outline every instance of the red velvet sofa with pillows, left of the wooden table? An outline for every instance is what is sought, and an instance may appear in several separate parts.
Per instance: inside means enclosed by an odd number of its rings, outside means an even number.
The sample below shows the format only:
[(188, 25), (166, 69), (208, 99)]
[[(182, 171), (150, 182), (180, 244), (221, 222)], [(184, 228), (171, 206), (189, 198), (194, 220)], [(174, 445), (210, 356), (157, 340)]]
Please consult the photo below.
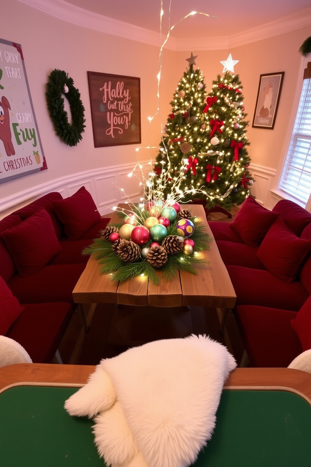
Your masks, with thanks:
[(0, 220), (0, 334), (34, 362), (52, 361), (76, 308), (83, 248), (109, 220), (84, 187), (69, 198), (48, 193)]

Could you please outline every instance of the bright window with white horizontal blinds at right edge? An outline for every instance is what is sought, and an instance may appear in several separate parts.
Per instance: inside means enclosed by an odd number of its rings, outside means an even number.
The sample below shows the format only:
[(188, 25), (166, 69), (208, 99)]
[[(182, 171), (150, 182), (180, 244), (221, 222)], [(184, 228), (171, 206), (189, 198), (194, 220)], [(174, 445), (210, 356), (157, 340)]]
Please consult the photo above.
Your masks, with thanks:
[(304, 82), (279, 190), (305, 207), (311, 195), (311, 62)]

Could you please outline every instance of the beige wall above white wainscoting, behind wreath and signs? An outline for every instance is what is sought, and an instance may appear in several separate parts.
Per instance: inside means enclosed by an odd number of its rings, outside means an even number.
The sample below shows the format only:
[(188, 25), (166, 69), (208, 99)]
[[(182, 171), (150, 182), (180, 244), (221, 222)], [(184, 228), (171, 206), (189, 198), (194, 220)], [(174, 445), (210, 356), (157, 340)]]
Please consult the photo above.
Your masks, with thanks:
[[(190, 56), (191, 50), (164, 50), (160, 115), (149, 128), (147, 117), (154, 115), (158, 108), (158, 47), (75, 26), (16, 0), (1, 0), (0, 31), (2, 39), (21, 43), (42, 147), (48, 164), (48, 170), (0, 184), (0, 211), (1, 199), (30, 187), (76, 172), (136, 162), (136, 145), (94, 148), (87, 71), (140, 77), (141, 146), (159, 144), (160, 118), (165, 125), (170, 111), (169, 102), (173, 98), (178, 80), (187, 68), (186, 58)], [(198, 55), (196, 64), (203, 71), (208, 91), (212, 80), (217, 74), (221, 74), (220, 61), (227, 59), (229, 52), (234, 59), (239, 60), (235, 72), (242, 81), (244, 105), (250, 121), (249, 155), (252, 163), (274, 171), (284, 157), (283, 143), (288, 137), (301, 59), (298, 48), (309, 35), (309, 28), (303, 28), (232, 50), (192, 50), (194, 55)], [(73, 78), (85, 107), (86, 128), (83, 140), (73, 148), (66, 146), (55, 135), (46, 107), (45, 84), (49, 73), (55, 68), (68, 72)], [(285, 75), (274, 130), (252, 128), (259, 76), (275, 71), (285, 71)], [(146, 159), (149, 155), (154, 157), (156, 152), (142, 150), (139, 152), (139, 158)], [(273, 183), (276, 182), (273, 180)], [(270, 200), (264, 199), (263, 203), (269, 205)]]

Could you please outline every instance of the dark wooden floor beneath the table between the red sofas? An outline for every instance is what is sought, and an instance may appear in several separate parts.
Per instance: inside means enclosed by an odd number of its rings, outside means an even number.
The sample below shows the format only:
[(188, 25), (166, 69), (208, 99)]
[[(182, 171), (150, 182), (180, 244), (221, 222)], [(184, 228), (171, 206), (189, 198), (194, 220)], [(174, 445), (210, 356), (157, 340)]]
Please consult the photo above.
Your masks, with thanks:
[[(208, 220), (231, 222), (221, 212), (212, 212)], [(106, 217), (110, 217), (108, 214)], [(191, 333), (207, 334), (221, 342), (240, 364), (244, 347), (235, 318), (230, 312), (224, 334), (219, 333), (221, 316), (214, 308), (184, 307), (160, 309), (156, 307), (129, 307), (97, 304), (88, 311), (90, 329), (83, 330), (81, 317), (76, 311), (59, 347), (63, 363), (97, 365), (101, 359), (124, 352), (131, 346), (146, 341), (186, 336)]]

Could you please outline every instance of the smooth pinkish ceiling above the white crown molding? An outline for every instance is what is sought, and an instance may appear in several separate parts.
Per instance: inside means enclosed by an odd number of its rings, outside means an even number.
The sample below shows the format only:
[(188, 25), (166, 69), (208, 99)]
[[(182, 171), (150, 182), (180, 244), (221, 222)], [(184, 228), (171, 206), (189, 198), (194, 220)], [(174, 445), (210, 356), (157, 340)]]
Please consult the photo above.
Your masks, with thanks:
[[(160, 32), (161, 3), (164, 37), (176, 25), (176, 39), (223, 37), (242, 34), (264, 25), (310, 10), (310, 0), (66, 0), (89, 12), (123, 21), (139, 28)], [(197, 11), (195, 14), (183, 18)], [(209, 14), (210, 17), (207, 17)], [(213, 16), (213, 17), (212, 17)]]

